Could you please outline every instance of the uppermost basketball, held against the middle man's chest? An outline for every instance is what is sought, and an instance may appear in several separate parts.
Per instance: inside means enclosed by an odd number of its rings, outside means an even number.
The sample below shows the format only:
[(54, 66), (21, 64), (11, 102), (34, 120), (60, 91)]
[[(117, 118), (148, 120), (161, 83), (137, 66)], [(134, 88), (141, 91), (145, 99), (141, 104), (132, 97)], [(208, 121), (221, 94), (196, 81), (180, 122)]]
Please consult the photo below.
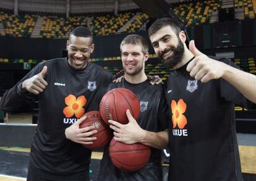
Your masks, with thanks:
[(106, 124), (108, 120), (116, 120), (121, 124), (129, 122), (126, 116), (126, 110), (137, 119), (140, 115), (140, 101), (137, 96), (126, 88), (115, 88), (108, 91), (100, 102), (100, 114)]

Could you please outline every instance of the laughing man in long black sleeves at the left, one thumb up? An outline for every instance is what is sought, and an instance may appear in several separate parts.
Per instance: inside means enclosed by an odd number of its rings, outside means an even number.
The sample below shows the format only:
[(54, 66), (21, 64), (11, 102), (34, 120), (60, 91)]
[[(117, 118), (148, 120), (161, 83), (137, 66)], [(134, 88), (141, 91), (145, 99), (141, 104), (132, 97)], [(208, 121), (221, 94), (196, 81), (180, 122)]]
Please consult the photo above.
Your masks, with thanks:
[[(1, 101), (1, 109), (11, 111), (27, 99), (38, 96), (40, 114), (32, 142), (28, 181), (89, 180), (91, 150), (65, 137), (65, 130), (95, 110), (96, 90), (114, 79), (102, 67), (88, 62), (93, 52), (92, 33), (85, 27), (72, 30), (67, 40), (67, 58), (36, 65)], [(82, 122), (80, 119), (77, 122)], [(92, 144), (96, 131), (79, 129), (80, 143)]]

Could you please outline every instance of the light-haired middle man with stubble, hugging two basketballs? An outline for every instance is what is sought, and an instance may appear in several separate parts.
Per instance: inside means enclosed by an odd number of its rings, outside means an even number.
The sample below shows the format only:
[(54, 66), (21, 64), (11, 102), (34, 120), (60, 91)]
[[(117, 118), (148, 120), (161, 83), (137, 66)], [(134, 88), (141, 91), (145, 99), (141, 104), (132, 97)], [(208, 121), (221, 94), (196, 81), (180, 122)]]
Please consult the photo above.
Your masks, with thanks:
[(142, 36), (126, 36), (122, 40), (120, 49), (124, 79), (120, 83), (109, 85), (105, 92), (113, 88), (127, 88), (137, 95), (140, 105), (146, 106), (141, 106), (144, 109), (140, 109), (140, 116), (137, 120), (127, 110), (129, 124), (122, 125), (109, 120), (110, 128), (114, 130), (116, 141), (127, 144), (139, 142), (153, 148), (151, 148), (150, 161), (145, 167), (136, 172), (124, 172), (117, 169), (111, 162), (108, 143), (101, 160), (98, 180), (162, 180), (160, 149), (168, 146), (169, 120), (163, 85), (150, 85), (150, 80), (144, 72), (145, 62), (148, 59), (148, 44)]

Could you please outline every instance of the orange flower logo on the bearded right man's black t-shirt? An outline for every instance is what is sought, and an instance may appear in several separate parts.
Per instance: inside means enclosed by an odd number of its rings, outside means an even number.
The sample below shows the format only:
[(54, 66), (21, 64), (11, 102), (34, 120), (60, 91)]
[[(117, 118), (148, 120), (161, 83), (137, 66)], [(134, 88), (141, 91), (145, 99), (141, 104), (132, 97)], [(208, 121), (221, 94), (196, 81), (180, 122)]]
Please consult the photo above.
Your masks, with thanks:
[(178, 103), (176, 101), (171, 101), (171, 112), (173, 113), (173, 128), (177, 125), (179, 128), (184, 128), (187, 124), (187, 118), (183, 115), (187, 109), (187, 104), (184, 103), (183, 99), (179, 99)]

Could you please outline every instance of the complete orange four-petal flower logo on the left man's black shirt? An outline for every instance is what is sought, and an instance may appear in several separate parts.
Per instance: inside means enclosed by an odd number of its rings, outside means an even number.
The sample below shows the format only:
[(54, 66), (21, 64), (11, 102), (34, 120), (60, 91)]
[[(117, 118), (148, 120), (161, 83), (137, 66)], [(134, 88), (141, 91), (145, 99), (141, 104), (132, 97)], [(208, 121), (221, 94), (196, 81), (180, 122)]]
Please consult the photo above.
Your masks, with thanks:
[(87, 103), (85, 96), (75, 98), (74, 95), (69, 95), (65, 98), (65, 103), (67, 107), (63, 109), (63, 113), (66, 117), (72, 117), (75, 114), (75, 117), (80, 118), (85, 114), (85, 109), (83, 109)]

